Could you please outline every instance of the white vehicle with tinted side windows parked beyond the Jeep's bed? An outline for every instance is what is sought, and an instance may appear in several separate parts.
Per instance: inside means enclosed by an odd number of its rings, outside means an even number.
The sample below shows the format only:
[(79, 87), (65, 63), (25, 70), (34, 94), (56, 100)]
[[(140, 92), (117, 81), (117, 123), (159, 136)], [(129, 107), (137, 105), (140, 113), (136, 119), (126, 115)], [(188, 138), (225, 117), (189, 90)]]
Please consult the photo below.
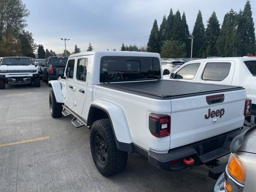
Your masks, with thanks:
[[(252, 100), (252, 114), (256, 116), (256, 58), (211, 58), (188, 62), (164, 79), (242, 86)], [(246, 118), (249, 122), (251, 118)]]

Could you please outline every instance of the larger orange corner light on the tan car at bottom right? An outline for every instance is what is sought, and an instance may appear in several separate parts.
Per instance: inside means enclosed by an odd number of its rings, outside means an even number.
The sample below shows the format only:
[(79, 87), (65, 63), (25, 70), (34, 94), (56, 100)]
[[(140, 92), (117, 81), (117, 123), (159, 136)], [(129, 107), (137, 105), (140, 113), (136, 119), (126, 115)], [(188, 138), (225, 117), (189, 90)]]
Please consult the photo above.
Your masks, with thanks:
[(230, 159), (228, 163), (228, 172), (240, 183), (245, 183), (246, 168), (238, 157), (234, 156)]

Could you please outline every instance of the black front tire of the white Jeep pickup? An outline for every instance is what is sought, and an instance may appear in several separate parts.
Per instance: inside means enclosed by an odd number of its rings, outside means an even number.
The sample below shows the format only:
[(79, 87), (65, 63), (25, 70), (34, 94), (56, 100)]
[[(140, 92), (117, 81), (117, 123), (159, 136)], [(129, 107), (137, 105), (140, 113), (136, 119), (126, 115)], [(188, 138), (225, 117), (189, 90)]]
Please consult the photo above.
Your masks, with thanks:
[(62, 116), (62, 104), (56, 102), (53, 90), (49, 93), (50, 114), (53, 118)]

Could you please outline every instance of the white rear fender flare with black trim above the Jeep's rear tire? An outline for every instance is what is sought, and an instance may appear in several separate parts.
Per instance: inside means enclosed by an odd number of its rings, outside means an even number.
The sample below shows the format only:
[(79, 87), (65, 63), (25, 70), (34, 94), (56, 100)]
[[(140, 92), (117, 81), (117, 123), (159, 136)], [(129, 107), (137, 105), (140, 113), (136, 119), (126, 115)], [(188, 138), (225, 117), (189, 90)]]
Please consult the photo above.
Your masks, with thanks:
[(98, 108), (108, 115), (110, 123), (113, 129), (116, 146), (119, 150), (126, 152), (134, 152), (134, 145), (130, 135), (130, 130), (124, 115), (124, 112), (120, 106), (104, 100), (94, 100), (90, 105), (88, 113), (88, 122), (90, 121), (90, 114), (92, 108)]

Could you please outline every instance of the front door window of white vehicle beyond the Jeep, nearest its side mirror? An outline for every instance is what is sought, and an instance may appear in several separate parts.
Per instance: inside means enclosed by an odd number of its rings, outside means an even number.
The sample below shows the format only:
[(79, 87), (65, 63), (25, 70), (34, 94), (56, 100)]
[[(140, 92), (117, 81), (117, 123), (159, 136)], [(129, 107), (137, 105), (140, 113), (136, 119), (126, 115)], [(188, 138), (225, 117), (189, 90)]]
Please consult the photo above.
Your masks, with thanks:
[(194, 63), (184, 66), (176, 74), (176, 79), (193, 79), (200, 66), (200, 63)]

